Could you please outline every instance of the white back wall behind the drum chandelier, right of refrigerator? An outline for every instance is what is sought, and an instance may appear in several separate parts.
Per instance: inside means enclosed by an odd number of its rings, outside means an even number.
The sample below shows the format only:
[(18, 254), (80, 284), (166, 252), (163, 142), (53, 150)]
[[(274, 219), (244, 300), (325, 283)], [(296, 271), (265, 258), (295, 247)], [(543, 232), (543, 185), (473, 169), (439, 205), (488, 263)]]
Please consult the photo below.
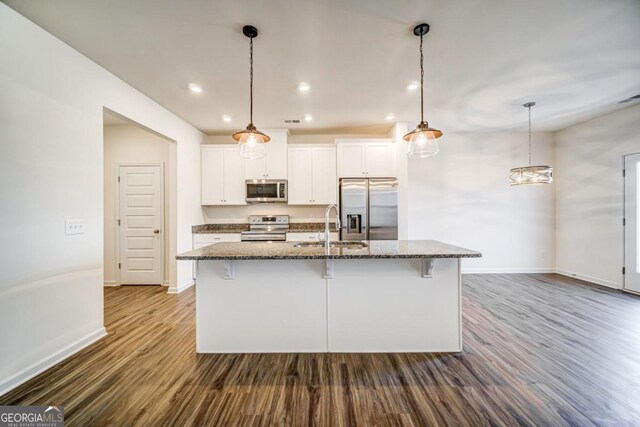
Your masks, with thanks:
[[(445, 133), (440, 153), (409, 160), (409, 238), (482, 252), (463, 272), (541, 272), (554, 265), (554, 187), (509, 186), (527, 164), (526, 133)], [(533, 163), (553, 165), (553, 134), (534, 133)]]

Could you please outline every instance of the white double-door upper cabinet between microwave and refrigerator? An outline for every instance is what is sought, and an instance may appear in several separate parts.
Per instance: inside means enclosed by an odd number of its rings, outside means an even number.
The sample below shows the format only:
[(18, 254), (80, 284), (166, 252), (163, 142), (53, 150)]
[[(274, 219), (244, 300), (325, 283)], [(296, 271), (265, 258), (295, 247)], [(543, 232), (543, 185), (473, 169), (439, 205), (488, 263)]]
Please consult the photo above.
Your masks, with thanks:
[(336, 203), (334, 146), (289, 146), (289, 204)]

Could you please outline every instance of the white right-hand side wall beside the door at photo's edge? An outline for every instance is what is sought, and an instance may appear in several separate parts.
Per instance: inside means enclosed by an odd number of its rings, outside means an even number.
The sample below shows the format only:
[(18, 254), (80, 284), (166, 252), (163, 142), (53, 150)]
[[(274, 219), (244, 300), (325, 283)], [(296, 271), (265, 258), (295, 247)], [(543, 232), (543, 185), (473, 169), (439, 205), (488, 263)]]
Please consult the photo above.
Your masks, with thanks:
[(640, 105), (556, 134), (558, 272), (622, 288), (622, 156), (640, 152)]

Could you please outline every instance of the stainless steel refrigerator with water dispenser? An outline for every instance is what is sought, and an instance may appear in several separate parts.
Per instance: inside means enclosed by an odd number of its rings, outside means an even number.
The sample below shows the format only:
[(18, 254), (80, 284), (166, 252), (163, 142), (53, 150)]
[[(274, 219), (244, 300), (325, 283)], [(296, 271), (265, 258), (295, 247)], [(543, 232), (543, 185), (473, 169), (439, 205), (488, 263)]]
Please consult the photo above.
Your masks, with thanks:
[(398, 180), (340, 180), (340, 240), (398, 239)]

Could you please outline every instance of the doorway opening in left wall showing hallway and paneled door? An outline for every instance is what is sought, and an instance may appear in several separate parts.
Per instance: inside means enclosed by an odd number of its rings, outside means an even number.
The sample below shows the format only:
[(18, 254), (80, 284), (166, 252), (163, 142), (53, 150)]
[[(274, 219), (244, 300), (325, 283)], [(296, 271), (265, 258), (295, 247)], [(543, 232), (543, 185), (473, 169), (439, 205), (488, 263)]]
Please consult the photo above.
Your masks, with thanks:
[(176, 144), (103, 112), (104, 285), (170, 286)]

